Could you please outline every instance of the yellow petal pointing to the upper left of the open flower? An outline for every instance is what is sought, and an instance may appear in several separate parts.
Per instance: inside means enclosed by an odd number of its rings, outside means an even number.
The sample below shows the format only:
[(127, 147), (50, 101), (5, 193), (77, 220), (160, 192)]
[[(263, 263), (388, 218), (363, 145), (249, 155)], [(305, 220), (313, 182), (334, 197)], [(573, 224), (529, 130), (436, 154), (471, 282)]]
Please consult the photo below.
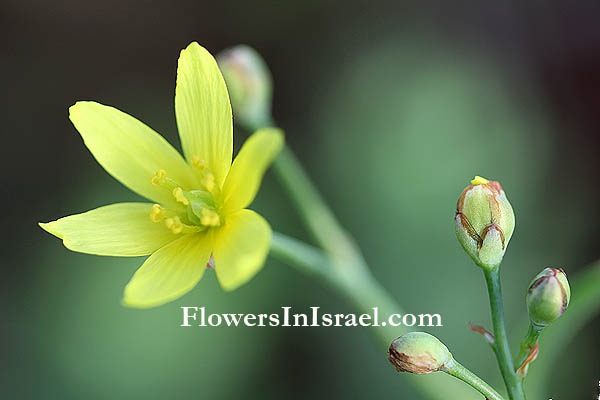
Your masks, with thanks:
[(134, 117), (92, 101), (69, 109), (69, 118), (85, 145), (104, 169), (134, 192), (161, 204), (175, 199), (152, 176), (164, 170), (184, 188), (197, 186), (197, 178), (183, 157), (159, 134)]

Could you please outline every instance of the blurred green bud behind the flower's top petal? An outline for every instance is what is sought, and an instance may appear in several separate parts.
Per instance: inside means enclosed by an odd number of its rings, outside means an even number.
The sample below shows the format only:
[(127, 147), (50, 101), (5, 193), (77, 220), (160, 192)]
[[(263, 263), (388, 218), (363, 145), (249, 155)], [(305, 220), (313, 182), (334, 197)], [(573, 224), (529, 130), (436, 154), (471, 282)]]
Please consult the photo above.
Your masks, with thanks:
[(248, 129), (256, 129), (269, 121), (273, 84), (269, 68), (258, 52), (239, 45), (221, 52), (217, 62), (237, 122)]

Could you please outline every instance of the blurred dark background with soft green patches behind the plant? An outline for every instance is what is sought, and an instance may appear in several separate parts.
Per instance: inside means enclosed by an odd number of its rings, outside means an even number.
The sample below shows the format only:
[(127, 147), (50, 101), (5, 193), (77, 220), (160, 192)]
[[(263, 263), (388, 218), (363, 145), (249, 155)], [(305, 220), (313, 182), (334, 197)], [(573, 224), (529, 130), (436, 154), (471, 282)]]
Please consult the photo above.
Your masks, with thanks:
[[(418, 398), (367, 328), (179, 327), (182, 305), (351, 311), (273, 259), (234, 293), (208, 273), (182, 299), (137, 311), (119, 302), (142, 259), (72, 253), (37, 227), (137, 200), (95, 162), (67, 109), (117, 106), (179, 148), (175, 72), (192, 40), (264, 55), (288, 144), (377, 278), (406, 310), (442, 314), (430, 332), (498, 384), (467, 330), (489, 325), (481, 274), (453, 232), (468, 180), (501, 180), (516, 211), (503, 264), (515, 339), (529, 280), (545, 266), (575, 276), (600, 253), (600, 3), (498, 3), (3, 0), (0, 397)], [(253, 208), (310, 239), (273, 175)], [(565, 347), (548, 397), (597, 395), (599, 322)]]

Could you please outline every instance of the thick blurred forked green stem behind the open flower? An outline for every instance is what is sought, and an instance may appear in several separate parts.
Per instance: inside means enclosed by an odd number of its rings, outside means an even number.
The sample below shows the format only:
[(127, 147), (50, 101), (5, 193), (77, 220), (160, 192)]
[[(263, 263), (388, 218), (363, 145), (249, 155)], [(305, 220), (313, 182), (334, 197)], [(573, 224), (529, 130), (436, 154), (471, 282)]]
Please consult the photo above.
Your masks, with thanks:
[[(258, 126), (248, 128), (256, 130), (263, 126), (274, 124), (271, 120), (265, 120)], [(273, 167), (310, 233), (325, 253), (281, 234), (274, 234), (272, 253), (302, 272), (324, 281), (363, 312), (370, 313), (373, 307), (378, 307), (381, 315), (402, 313), (398, 303), (375, 280), (361, 251), (341, 227), (287, 146), (275, 159)], [(385, 349), (393, 339), (407, 332), (406, 328), (389, 324), (373, 326), (372, 329)], [(468, 397), (468, 392), (462, 386), (452, 386), (451, 381), (443, 379), (444, 375), (439, 375), (429, 379), (408, 376), (407, 379), (429, 399), (445, 400), (448, 393), (456, 395), (456, 398)]]

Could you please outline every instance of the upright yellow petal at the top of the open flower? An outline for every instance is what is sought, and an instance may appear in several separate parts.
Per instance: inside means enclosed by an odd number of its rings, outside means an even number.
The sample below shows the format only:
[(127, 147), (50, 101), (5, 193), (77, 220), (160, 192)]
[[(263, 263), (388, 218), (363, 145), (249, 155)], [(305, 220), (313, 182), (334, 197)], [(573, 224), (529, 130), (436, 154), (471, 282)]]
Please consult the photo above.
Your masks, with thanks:
[(196, 42), (179, 56), (175, 115), (185, 157), (206, 161), (222, 186), (233, 153), (231, 104), (217, 62)]

